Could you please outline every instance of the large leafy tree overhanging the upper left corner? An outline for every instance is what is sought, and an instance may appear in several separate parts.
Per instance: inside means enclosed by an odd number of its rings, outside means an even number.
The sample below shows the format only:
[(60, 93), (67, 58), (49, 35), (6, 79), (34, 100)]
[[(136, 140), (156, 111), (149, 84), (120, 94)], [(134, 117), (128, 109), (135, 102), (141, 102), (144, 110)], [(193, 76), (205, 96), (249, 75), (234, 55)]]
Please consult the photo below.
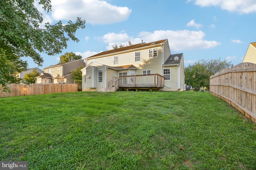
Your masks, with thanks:
[[(37, 1), (46, 12), (51, 12), (50, 0)], [(58, 21), (43, 25), (42, 14), (34, 5), (34, 0), (0, 1), (0, 84), (17, 82), (16, 74), (28, 68), (21, 57), (31, 57), (38, 66), (43, 58), (39, 53), (56, 55), (67, 48), (67, 41), (78, 42), (76, 30), (85, 28), (85, 21), (63, 24)], [(42, 29), (42, 25), (45, 27)]]

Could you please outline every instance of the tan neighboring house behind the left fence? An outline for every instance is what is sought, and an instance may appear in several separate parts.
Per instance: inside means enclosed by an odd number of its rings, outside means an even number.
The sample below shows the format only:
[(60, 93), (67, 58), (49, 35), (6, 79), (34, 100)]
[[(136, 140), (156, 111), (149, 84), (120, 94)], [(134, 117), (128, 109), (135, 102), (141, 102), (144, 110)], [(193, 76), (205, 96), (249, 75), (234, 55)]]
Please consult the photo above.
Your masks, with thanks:
[[(80, 66), (86, 66), (82, 60), (70, 61), (62, 64), (56, 64), (44, 68), (44, 72), (36, 77), (38, 84), (78, 84), (72, 80), (73, 74), (71, 71)], [(80, 86), (82, 84), (80, 83)], [(79, 86), (78, 86), (79, 88)]]

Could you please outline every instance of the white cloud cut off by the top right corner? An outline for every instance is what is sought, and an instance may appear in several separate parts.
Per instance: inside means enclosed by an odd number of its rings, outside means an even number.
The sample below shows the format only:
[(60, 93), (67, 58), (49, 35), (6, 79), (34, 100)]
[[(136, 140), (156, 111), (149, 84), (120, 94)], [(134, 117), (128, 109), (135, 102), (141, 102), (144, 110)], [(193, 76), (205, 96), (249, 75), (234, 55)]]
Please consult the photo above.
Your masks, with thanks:
[(199, 6), (220, 6), (222, 10), (238, 12), (239, 14), (249, 14), (256, 12), (255, 0), (195, 0)]

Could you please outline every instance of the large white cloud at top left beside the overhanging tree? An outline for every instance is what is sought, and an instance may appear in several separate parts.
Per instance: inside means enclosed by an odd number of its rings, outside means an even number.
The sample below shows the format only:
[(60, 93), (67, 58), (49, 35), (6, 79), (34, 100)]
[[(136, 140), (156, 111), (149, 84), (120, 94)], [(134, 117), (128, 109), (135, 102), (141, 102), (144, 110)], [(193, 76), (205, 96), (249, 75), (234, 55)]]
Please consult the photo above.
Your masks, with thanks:
[(54, 0), (54, 20), (76, 20), (79, 16), (86, 23), (109, 24), (127, 20), (132, 12), (128, 7), (115, 6), (104, 0)]

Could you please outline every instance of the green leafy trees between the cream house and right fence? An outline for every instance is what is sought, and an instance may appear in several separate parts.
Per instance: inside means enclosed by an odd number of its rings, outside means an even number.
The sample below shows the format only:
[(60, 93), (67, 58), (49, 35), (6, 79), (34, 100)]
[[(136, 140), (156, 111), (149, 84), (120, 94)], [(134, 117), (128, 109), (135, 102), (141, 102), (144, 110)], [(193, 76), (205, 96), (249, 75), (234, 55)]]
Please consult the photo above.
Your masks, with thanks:
[(200, 60), (185, 68), (185, 83), (191, 85), (194, 91), (199, 91), (201, 87), (209, 88), (210, 76), (224, 68), (231, 66), (231, 62), (220, 59)]

